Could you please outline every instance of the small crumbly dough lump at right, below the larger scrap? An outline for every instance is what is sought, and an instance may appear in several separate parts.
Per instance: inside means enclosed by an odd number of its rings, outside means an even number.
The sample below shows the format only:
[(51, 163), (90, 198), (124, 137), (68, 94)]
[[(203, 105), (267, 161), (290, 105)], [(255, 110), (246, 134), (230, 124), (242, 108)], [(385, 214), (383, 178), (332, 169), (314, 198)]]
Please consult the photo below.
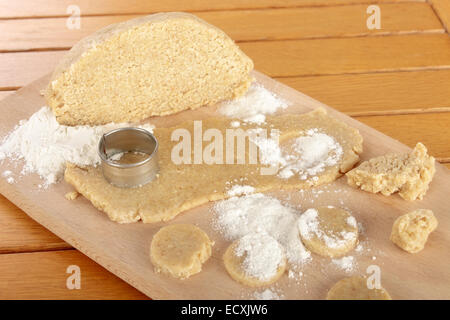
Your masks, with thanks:
[(428, 235), (437, 225), (437, 219), (431, 210), (415, 210), (395, 220), (391, 241), (410, 253), (419, 252), (425, 247)]

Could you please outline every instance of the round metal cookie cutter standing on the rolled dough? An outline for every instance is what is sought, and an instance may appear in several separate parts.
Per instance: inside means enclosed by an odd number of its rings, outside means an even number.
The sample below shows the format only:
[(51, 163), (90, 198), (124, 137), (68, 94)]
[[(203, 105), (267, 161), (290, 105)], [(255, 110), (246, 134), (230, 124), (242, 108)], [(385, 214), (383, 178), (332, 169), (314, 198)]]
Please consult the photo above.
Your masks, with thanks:
[[(135, 163), (119, 163), (113, 156), (120, 153), (140, 152), (146, 157)], [(158, 140), (149, 131), (126, 127), (105, 133), (98, 144), (102, 172), (105, 179), (121, 188), (143, 186), (159, 172)]]

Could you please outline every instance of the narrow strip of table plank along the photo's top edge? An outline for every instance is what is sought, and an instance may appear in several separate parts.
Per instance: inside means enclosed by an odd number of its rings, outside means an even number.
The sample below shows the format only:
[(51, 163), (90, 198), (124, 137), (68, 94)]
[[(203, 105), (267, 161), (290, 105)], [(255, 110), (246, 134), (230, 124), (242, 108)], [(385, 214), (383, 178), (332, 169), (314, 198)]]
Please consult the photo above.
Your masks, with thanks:
[(208, 11), (265, 9), (303, 6), (327, 6), (341, 4), (375, 4), (385, 2), (425, 2), (426, 0), (16, 0), (0, 1), (0, 17), (52, 17), (67, 16), (67, 7), (77, 5), (82, 15), (112, 15), (154, 13), (162, 11)]

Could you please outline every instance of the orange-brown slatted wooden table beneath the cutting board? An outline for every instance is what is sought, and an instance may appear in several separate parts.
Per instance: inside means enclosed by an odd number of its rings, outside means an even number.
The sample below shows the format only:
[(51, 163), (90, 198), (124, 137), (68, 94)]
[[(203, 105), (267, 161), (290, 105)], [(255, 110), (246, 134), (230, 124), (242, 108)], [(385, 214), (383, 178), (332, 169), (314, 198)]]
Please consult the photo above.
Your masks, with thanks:
[[(81, 28), (67, 28), (69, 5)], [(368, 30), (370, 4), (381, 29)], [(450, 168), (450, 0), (0, 0), (0, 99), (50, 72), (77, 40), (142, 14), (189, 11), (256, 69)], [(70, 265), (81, 289), (68, 290)], [(0, 299), (146, 299), (0, 195)]]

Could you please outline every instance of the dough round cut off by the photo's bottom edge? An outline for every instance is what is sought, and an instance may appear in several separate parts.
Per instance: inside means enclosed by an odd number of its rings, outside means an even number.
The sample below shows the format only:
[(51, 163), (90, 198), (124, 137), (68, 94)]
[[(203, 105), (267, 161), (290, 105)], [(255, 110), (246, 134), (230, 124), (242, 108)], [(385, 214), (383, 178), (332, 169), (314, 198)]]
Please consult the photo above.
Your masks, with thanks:
[(392, 300), (384, 288), (369, 289), (366, 278), (355, 276), (338, 281), (327, 294), (327, 300)]

